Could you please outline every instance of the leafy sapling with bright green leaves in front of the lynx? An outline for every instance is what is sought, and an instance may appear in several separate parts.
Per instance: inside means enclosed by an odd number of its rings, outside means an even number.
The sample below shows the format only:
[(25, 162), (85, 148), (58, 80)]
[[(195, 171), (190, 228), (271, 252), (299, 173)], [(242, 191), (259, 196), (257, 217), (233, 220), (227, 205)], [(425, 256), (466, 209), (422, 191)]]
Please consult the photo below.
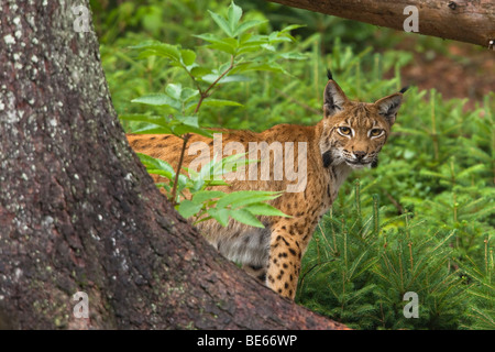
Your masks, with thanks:
[[(194, 88), (183, 87), (182, 84), (168, 84), (164, 94), (145, 95), (132, 100), (132, 102), (147, 106), (148, 109), (157, 108), (160, 114), (121, 114), (120, 119), (140, 123), (138, 129), (132, 129), (133, 133), (174, 134), (183, 139), (183, 154), (191, 133), (212, 136), (210, 131), (201, 129), (198, 123), (202, 105), (211, 107), (241, 106), (232, 100), (211, 99), (213, 89), (223, 84), (244, 81), (246, 78), (239, 75), (240, 73), (278, 70), (276, 57), (265, 61), (263, 56), (256, 55), (255, 58), (250, 59), (249, 54), (260, 53), (263, 50), (275, 52), (278, 43), (293, 40), (289, 30), (294, 26), (271, 35), (246, 33), (249, 29), (263, 21), (241, 21), (242, 9), (234, 2), (229, 7), (227, 16), (212, 11), (208, 12), (224, 32), (223, 34), (227, 34), (227, 37), (215, 34), (202, 34), (197, 37), (210, 43), (207, 46), (212, 55), (215, 52), (229, 54), (229, 63), (221, 64), (218, 68), (200, 66), (196, 63), (196, 52), (184, 50), (180, 45), (146, 41), (132, 46), (139, 52), (136, 59), (160, 57), (166, 59), (169, 66), (180, 68), (190, 78)], [(226, 169), (235, 170), (232, 164), (239, 160), (239, 155), (232, 155), (219, 162), (210, 161), (193, 178), (180, 173), (182, 157), (177, 169), (174, 170), (164, 161), (144, 154), (139, 156), (150, 174), (167, 179), (166, 183), (160, 183), (157, 186), (165, 190), (168, 198), (176, 205), (177, 211), (184, 218), (193, 218), (195, 223), (215, 219), (220, 224), (227, 226), (229, 219), (232, 218), (249, 226), (264, 228), (256, 216), (285, 217), (282, 211), (266, 204), (266, 201), (277, 198), (279, 196), (277, 193), (252, 190), (226, 194), (220, 190), (211, 190), (211, 187), (215, 186), (228, 186), (221, 180), (221, 176)]]

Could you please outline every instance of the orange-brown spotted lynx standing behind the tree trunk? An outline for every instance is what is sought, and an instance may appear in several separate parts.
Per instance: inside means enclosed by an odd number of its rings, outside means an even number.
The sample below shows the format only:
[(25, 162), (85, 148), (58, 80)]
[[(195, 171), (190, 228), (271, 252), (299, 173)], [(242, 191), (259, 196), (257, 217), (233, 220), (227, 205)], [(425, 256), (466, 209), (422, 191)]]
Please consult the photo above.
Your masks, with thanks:
[[(272, 201), (272, 206), (289, 217), (261, 217), (264, 229), (234, 220), (227, 227), (215, 220), (197, 226), (220, 253), (242, 264), (250, 275), (290, 299), (296, 295), (301, 257), (318, 221), (329, 210), (340, 186), (352, 170), (377, 165), (378, 153), (391, 133), (403, 94), (407, 89), (403, 88), (372, 103), (359, 102), (346, 98), (330, 72), (328, 78), (323, 91), (323, 117), (314, 127), (278, 124), (261, 133), (221, 130), (223, 154), (239, 153), (240, 146), (248, 151), (250, 143), (275, 143), (278, 150), (282, 146), (285, 158), (289, 155), (297, 160), (304, 153), (302, 166), (294, 161), (292, 164), (299, 178), (297, 184), (304, 186), (297, 191), (286, 191), (290, 182), (277, 175), (277, 165), (288, 161), (275, 156), (275, 148), (265, 154), (270, 154), (272, 167), (266, 174), (270, 177), (238, 177), (230, 182), (230, 186), (220, 189), (283, 191), (280, 197)], [(128, 139), (136, 152), (177, 166), (183, 140), (173, 135), (151, 134), (129, 134)], [(191, 135), (189, 151), (185, 153), (185, 167), (198, 161), (197, 150), (190, 148), (198, 143), (213, 152), (211, 139)], [(246, 166), (245, 173), (260, 166), (261, 162), (258, 160), (257, 164)], [(262, 170), (255, 168), (254, 174), (261, 176)]]

